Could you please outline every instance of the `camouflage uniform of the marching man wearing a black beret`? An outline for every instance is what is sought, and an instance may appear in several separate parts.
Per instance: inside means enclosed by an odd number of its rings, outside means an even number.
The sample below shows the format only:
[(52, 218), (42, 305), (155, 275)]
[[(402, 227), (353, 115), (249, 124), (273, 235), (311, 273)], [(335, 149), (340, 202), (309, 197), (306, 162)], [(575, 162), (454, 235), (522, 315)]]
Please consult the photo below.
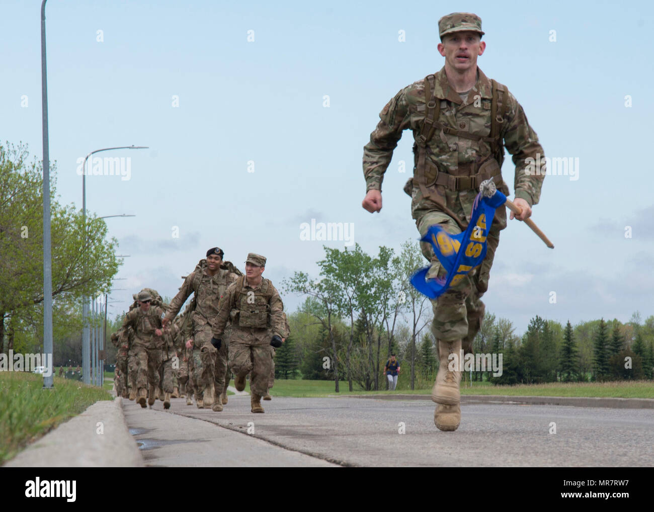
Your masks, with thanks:
[[(201, 266), (201, 264), (199, 265)], [(235, 274), (232, 277), (232, 274), (229, 270), (221, 267), (215, 275), (210, 276), (206, 271), (196, 268), (186, 277), (184, 284), (167, 309), (166, 317), (172, 320), (179, 313), (186, 299), (192, 293), (196, 294), (196, 309), (191, 316), (193, 349), (189, 360), (189, 371), (192, 371), (192, 379), (196, 387), (196, 400), (203, 400), (208, 386), (211, 386), (212, 390), (216, 390), (217, 393), (217, 383), (220, 383), (220, 392), (222, 392), (225, 368), (222, 367), (222, 377), (216, 375), (218, 350), (211, 345), (211, 329), (218, 315), (220, 290), (224, 290), (227, 284), (237, 277)], [(222, 354), (219, 359), (226, 360), (226, 347), (221, 350)]]

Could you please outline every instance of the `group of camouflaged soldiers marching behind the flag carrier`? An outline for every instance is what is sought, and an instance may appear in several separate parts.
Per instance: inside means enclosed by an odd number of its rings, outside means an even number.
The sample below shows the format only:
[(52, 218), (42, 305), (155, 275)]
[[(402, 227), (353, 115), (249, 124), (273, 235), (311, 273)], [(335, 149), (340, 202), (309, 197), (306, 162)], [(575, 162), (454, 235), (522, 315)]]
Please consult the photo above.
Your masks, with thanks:
[[(218, 247), (207, 250), (170, 304), (151, 288), (133, 296), (122, 327), (111, 336), (116, 355), (116, 394), (141, 407), (158, 398), (195, 400), (199, 409), (222, 411), (232, 372), (235, 388), (250, 375), (252, 413), (271, 400), (275, 348), (288, 337), (284, 305), (275, 286), (262, 277), (266, 258), (250, 253), (245, 275), (223, 260)], [(191, 294), (194, 297), (178, 315)]]

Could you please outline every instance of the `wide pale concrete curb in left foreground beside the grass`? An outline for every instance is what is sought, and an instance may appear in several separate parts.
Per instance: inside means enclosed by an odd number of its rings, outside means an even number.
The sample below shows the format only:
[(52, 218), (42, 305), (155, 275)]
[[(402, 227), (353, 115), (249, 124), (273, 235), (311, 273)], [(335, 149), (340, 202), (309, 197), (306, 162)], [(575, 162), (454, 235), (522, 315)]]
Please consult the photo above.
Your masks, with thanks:
[(122, 399), (100, 400), (35, 441), (5, 468), (143, 468)]

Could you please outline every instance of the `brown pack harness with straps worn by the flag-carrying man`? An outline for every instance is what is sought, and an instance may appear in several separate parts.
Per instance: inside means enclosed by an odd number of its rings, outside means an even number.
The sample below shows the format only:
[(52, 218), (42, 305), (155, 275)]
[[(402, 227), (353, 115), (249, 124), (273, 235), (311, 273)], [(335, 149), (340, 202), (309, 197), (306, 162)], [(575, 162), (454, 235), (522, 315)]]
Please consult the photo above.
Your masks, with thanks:
[[(508, 90), (495, 80), (491, 79), (490, 83), (492, 85), (490, 135), (489, 137), (483, 137), (482, 135), (475, 135), (468, 131), (445, 126), (439, 122), (441, 99), (436, 97), (436, 75), (427, 75), (424, 78), (424, 97), (427, 103), (422, 128), (419, 135), (415, 137), (415, 143), (413, 144), (415, 181), (420, 187), (422, 197), (431, 199), (437, 203), (445, 213), (456, 220), (462, 230), (465, 230), (466, 227), (462, 226), (462, 223), (458, 220), (458, 216), (447, 208), (445, 197), (439, 194), (437, 185), (442, 185), (447, 190), (477, 190), (482, 181), (492, 178), (498, 188), (501, 186), (504, 145), (500, 135), (500, 125), (504, 122), (504, 116), (507, 111)], [(453, 174), (441, 171), (427, 158), (429, 142), (437, 130), (441, 134), (447, 133), (448, 135), (463, 137), (464, 139), (487, 142), (491, 148), (490, 154), (480, 158), (479, 162), (460, 164)], [(413, 188), (412, 180), (409, 180), (409, 183), (407, 183), (407, 188)], [(411, 196), (411, 190), (407, 190), (407, 188), (405, 188), (405, 192)]]

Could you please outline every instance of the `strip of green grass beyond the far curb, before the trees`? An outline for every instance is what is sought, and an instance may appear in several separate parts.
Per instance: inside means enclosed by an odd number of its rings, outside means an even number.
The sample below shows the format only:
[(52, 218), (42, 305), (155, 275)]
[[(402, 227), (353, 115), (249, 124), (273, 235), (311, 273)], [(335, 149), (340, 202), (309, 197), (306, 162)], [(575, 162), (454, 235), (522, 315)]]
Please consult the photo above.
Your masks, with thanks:
[[(233, 386), (233, 381), (232, 381)], [(380, 382), (383, 384), (383, 382)], [(433, 383), (432, 383), (433, 384)], [(375, 394), (430, 394), (428, 388), (396, 391), (364, 391), (358, 384), (349, 392), (347, 381), (339, 383), (338, 396), (375, 395)], [(245, 388), (248, 392), (250, 384)], [(270, 390), (271, 396), (296, 397), (326, 397), (334, 396), (333, 381), (303, 381), (275, 379), (275, 385)], [(461, 383), (461, 394), (464, 395), (510, 395), (510, 396), (581, 396), (581, 397), (617, 397), (617, 398), (654, 398), (654, 383), (652, 381), (618, 381), (611, 383), (549, 383), (549, 384), (519, 384), (517, 386), (494, 386), (489, 382)]]

